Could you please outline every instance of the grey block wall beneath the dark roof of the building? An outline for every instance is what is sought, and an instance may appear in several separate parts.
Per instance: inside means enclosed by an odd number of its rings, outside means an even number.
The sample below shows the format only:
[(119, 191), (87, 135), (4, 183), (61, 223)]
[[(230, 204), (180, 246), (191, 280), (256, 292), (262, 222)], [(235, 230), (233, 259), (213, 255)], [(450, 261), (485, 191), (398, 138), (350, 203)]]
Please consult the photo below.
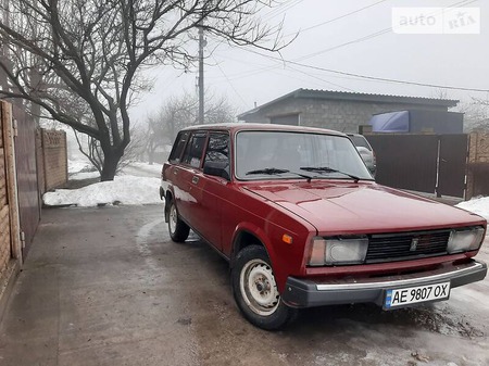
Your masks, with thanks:
[(374, 114), (409, 109), (447, 112), (447, 108), (426, 104), (289, 98), (263, 109), (247, 122), (269, 123), (273, 116), (299, 114), (301, 126), (358, 132), (359, 126), (366, 125)]

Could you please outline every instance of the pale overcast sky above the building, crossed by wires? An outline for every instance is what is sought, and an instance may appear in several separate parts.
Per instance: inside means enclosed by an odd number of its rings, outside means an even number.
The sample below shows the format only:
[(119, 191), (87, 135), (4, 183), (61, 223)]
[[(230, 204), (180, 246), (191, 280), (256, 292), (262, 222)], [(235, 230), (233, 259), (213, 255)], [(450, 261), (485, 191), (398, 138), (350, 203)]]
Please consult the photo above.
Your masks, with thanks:
[[(392, 31), (392, 8), (463, 7), (480, 10), (479, 34), (413, 35)], [(264, 10), (263, 22), (284, 20), (284, 34), (297, 39), (277, 53), (216, 45), (208, 38), (205, 90), (226, 96), (237, 113), (298, 88), (414, 97), (440, 96), (436, 87), (377, 81), (308, 66), (421, 84), (489, 89), (489, 2), (486, 0), (289, 0)], [(289, 36), (290, 37), (290, 36)], [(211, 52), (212, 51), (212, 52)], [(262, 53), (263, 55), (256, 54)], [(302, 65), (299, 65), (302, 64)], [(153, 71), (155, 85), (133, 110), (136, 121), (171, 96), (197, 93), (197, 67)], [(487, 92), (444, 89), (449, 99), (488, 99)]]

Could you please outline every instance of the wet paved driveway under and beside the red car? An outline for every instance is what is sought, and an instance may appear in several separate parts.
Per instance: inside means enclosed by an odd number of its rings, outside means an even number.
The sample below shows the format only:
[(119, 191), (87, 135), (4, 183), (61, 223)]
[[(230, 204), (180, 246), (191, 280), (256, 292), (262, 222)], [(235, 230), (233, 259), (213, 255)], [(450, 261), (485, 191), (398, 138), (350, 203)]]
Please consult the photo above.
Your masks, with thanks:
[(489, 365), (488, 293), (486, 280), (415, 310), (309, 310), (266, 332), (240, 316), (218, 254), (168, 240), (161, 206), (46, 210), (0, 365)]

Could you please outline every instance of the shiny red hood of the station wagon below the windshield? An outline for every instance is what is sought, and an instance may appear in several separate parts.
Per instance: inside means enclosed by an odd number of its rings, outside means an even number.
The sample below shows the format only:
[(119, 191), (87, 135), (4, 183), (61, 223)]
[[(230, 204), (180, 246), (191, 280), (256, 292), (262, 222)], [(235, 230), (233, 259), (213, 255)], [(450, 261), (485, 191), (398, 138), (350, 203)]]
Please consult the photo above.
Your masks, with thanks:
[(394, 232), (481, 225), (485, 219), (375, 182), (251, 184), (244, 189), (302, 217), (318, 232)]

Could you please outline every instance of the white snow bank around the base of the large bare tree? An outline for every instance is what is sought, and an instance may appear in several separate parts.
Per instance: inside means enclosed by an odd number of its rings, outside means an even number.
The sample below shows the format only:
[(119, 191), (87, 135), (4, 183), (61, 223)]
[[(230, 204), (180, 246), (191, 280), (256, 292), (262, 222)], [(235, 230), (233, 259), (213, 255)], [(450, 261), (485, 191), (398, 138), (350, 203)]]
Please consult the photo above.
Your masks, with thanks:
[[(137, 176), (125, 174), (116, 176), (113, 181), (100, 181), (79, 189), (57, 189), (42, 197), (43, 203), (50, 206), (77, 205), (97, 206), (105, 204), (152, 204), (160, 200), (161, 165), (131, 163), (130, 172), (140, 173)], [(86, 172), (85, 163), (68, 162), (70, 179), (87, 179), (99, 176), (98, 172)], [(79, 169), (79, 171), (76, 171)]]

